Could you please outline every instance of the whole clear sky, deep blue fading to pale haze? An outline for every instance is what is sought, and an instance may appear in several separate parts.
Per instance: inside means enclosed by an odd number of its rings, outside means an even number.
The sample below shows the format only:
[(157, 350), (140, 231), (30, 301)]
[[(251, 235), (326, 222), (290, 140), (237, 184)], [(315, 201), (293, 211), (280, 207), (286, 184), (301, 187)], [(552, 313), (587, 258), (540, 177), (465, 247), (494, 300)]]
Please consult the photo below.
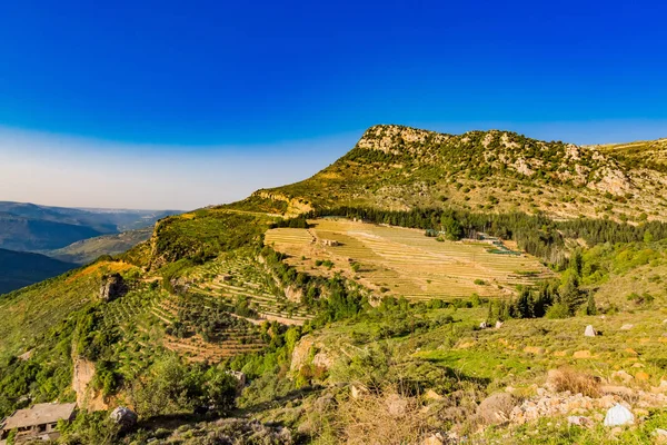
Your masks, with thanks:
[[(578, 144), (667, 137), (665, 17), (658, 1), (3, 2), (0, 199), (238, 199), (326, 167), (375, 123)], [(77, 188), (90, 178), (73, 164), (123, 156), (136, 160), (131, 188), (104, 171)], [(140, 168), (151, 162), (163, 175)], [(39, 168), (44, 187), (2, 180), (19, 165)], [(206, 194), (191, 186), (202, 169), (218, 171)], [(181, 192), (170, 200), (141, 176), (178, 177)], [(50, 178), (63, 188), (49, 191)]]

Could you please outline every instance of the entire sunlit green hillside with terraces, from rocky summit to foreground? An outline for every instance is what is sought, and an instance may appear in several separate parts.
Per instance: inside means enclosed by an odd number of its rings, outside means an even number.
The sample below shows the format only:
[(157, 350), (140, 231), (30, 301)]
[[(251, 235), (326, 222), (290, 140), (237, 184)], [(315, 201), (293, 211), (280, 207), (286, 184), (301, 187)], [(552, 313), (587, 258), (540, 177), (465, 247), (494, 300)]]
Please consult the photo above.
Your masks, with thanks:
[[(0, 416), (77, 399), (68, 444), (653, 443), (667, 182), (660, 141), (626, 146), (372, 127), (0, 296)], [(634, 426), (603, 425), (617, 403)]]

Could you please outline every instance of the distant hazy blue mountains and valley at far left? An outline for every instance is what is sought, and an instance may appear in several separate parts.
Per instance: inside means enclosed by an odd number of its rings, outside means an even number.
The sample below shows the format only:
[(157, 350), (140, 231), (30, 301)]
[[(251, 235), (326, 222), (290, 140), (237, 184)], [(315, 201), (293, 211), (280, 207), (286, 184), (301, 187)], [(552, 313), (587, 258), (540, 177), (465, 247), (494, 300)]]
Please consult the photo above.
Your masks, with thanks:
[(0, 201), (0, 294), (122, 253), (148, 239), (157, 220), (179, 212)]

